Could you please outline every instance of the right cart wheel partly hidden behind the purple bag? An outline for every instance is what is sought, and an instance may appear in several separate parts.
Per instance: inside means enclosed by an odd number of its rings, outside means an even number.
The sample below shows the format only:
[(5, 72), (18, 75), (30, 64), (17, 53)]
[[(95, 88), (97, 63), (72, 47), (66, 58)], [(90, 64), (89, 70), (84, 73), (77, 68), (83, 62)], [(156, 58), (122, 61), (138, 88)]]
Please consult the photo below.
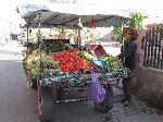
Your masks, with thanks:
[(96, 110), (99, 112), (108, 112), (113, 107), (113, 89), (111, 85), (105, 88), (105, 98), (101, 103), (95, 103)]

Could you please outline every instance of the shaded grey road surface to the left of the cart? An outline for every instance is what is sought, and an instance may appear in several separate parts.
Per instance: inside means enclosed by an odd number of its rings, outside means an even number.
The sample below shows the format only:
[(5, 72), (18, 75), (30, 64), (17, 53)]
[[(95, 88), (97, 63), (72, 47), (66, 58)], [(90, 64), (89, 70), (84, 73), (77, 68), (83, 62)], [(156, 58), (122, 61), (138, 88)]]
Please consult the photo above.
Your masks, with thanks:
[(20, 61), (0, 61), (0, 122), (35, 122), (35, 91), (26, 87)]

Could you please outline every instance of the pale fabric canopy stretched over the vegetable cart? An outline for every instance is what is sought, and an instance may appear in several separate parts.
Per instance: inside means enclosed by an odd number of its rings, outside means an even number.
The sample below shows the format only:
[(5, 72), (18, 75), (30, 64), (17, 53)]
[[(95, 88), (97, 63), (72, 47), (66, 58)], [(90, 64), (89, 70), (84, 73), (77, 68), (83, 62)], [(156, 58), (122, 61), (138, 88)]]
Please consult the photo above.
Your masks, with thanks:
[[(24, 4), (17, 11), (30, 27), (110, 27), (117, 23), (131, 20), (129, 10), (100, 7), (98, 4), (51, 3), (48, 5)], [(79, 21), (80, 20), (80, 21)]]

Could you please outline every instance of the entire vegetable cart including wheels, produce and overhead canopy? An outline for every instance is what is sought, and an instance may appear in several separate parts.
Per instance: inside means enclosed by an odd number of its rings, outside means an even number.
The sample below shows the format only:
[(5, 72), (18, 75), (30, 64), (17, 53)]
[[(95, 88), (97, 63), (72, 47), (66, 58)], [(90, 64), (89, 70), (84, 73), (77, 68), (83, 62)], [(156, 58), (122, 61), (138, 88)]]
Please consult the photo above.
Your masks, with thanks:
[[(101, 26), (101, 21), (104, 21), (102, 23), (106, 23), (105, 26), (112, 26), (113, 24), (130, 20), (129, 17), (118, 15), (120, 12), (113, 10), (110, 11), (110, 14), (101, 13), (101, 11), (97, 12), (99, 9), (95, 9), (95, 5), (84, 8), (75, 3), (71, 5), (67, 4), (67, 7), (65, 5), (66, 4), (55, 4), (55, 7), (52, 8), (55, 10), (45, 8), (45, 5), (37, 5), (36, 10), (28, 10), (30, 5), (27, 4), (21, 7), (18, 12), (26, 21), (27, 28), (38, 25), (38, 28), (45, 26), (77, 27), (78, 37), (80, 37), (83, 26), (93, 27), (95, 22), (96, 26)], [(64, 7), (65, 10), (62, 9)], [(32, 8), (34, 9), (34, 4), (32, 4)], [(73, 8), (76, 8), (76, 13), (70, 10)], [(78, 9), (82, 10), (78, 11)], [(92, 9), (95, 13), (88, 9)], [(21, 10), (26, 13), (22, 13)], [(61, 10), (61, 12), (59, 10)], [(80, 23), (82, 20), (84, 24)], [(110, 20), (111, 22), (109, 23)], [(100, 112), (109, 111), (113, 107), (111, 82), (118, 81), (129, 73), (127, 69), (108, 69), (114, 65), (114, 63), (113, 65), (110, 64), (113, 61), (113, 58), (110, 56), (92, 58), (90, 54), (86, 54), (88, 53), (87, 51), (82, 53), (84, 50), (80, 48), (80, 38), (77, 45), (78, 48), (76, 49), (71, 46), (68, 39), (47, 40), (38, 38), (39, 48), (24, 59), (26, 74), (29, 78), (28, 85), (38, 90), (38, 114), (41, 122), (53, 120), (53, 111), (55, 110), (54, 103), (88, 100), (89, 97), (86, 91), (91, 84), (92, 72), (96, 73), (100, 84), (105, 89), (104, 99), (102, 102), (95, 102), (95, 108)], [(86, 57), (84, 57), (85, 54)], [(65, 97), (66, 94), (70, 93), (74, 94), (73, 98)], [(85, 94), (84, 96), (75, 96), (76, 94), (83, 93)]]

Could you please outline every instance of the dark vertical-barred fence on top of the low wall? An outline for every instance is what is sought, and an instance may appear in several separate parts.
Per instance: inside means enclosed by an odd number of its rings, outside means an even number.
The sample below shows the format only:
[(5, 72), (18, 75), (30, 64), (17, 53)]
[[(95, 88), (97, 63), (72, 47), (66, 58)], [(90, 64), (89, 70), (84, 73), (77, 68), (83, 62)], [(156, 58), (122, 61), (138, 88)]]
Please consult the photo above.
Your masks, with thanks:
[(148, 28), (142, 48), (145, 49), (145, 66), (163, 70), (163, 25)]

